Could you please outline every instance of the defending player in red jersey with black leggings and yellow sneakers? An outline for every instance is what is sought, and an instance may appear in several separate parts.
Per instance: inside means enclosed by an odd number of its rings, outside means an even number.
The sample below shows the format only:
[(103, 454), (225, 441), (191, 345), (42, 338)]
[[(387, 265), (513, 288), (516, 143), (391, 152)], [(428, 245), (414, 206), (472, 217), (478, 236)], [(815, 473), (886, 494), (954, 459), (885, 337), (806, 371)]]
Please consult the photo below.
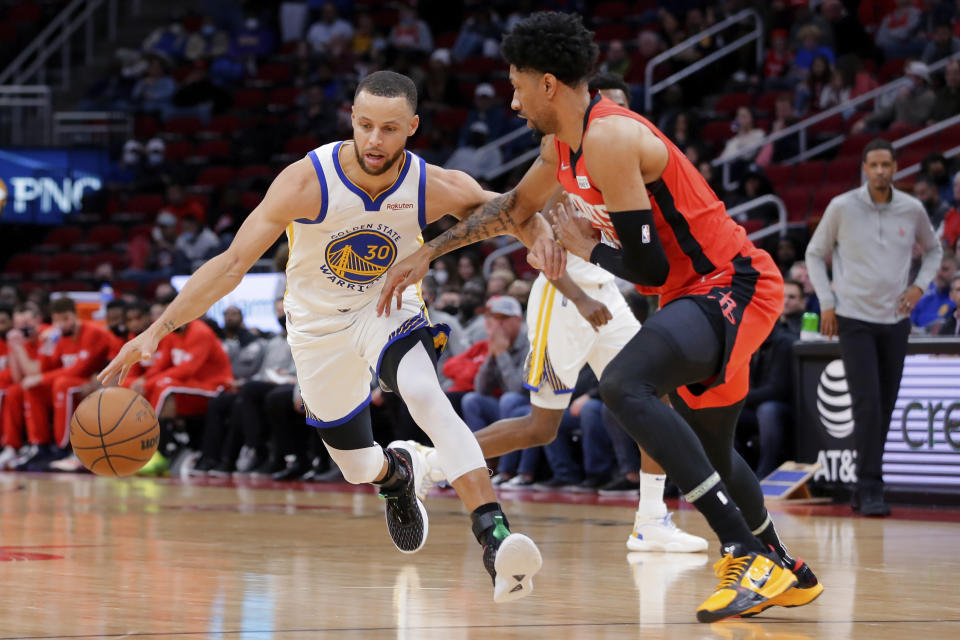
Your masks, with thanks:
[[(812, 601), (822, 585), (787, 555), (756, 477), (733, 449), (750, 356), (782, 308), (776, 265), (666, 136), (608, 99), (591, 100), (597, 47), (579, 17), (533, 14), (504, 37), (501, 50), (510, 63), (512, 108), (546, 134), (540, 157), (514, 190), (396, 264), (378, 310), (389, 313), (395, 292), (437, 256), (503, 233), (531, 246), (531, 262), (548, 278), (562, 276), (569, 250), (659, 294), (663, 308), (607, 366), (600, 390), (620, 425), (720, 539), (721, 581), (697, 618)], [(569, 201), (554, 225), (563, 246), (530, 231), (542, 229), (532, 221), (557, 182)], [(667, 393), (673, 407), (659, 400)]]

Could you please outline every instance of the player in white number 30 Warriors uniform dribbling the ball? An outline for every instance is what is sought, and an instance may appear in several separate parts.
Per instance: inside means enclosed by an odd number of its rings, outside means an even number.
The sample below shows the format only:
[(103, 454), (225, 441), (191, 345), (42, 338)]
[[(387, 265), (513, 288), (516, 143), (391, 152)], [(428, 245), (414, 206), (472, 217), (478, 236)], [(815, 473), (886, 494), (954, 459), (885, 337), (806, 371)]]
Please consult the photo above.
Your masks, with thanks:
[(413, 287), (398, 313), (376, 312), (380, 277), (420, 246), (421, 229), (445, 214), (464, 215), (492, 196), (466, 174), (427, 165), (405, 150), (419, 124), (416, 106), (416, 88), (406, 76), (378, 71), (364, 78), (354, 98), (353, 140), (324, 145), (286, 167), (230, 247), (200, 267), (99, 378), (106, 383), (119, 375), (122, 382), (161, 338), (234, 289), (286, 230), (284, 309), (307, 422), (319, 429), (347, 481), (379, 487), (397, 548), (418, 551), (428, 530), (417, 496), (427, 467), (405, 443), (384, 450), (374, 442), (368, 407), (373, 370), (436, 445), (437, 464), (483, 546), (494, 600), (515, 600), (530, 593), (542, 560), (530, 538), (510, 532), (480, 447), (440, 387), (435, 346), (449, 330), (430, 324)]

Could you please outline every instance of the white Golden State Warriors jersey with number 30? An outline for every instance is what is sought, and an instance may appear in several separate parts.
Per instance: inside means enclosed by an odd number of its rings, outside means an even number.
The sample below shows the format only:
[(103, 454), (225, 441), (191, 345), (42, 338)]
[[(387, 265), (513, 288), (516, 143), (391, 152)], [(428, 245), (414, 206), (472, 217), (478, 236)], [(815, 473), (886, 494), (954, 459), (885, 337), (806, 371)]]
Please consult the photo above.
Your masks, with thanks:
[[(307, 156), (320, 180), (323, 202), (312, 218), (287, 227), (290, 257), (284, 307), (295, 330), (321, 317), (356, 311), (377, 299), (381, 276), (421, 245), (426, 225), (426, 165), (404, 151), (396, 182), (368, 194), (340, 166), (340, 148), (353, 154), (353, 142), (333, 142)], [(405, 292), (405, 297), (411, 292)]]

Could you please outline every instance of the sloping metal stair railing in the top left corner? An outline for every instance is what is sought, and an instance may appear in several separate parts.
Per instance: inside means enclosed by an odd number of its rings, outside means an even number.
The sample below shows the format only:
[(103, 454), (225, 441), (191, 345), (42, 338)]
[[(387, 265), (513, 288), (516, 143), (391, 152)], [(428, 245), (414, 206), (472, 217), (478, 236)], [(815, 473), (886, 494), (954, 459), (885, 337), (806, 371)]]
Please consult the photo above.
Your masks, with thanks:
[[(113, 42), (117, 37), (118, 5), (117, 0), (73, 0), (0, 71), (0, 85), (47, 84), (48, 63), (59, 57), (60, 86), (69, 88), (73, 36), (83, 31), (84, 63), (92, 64), (94, 44), (103, 37), (103, 34), (94, 33), (95, 21), (103, 17), (98, 10), (106, 7), (106, 37)], [(140, 0), (130, 0), (124, 6), (129, 7), (133, 15), (139, 15)]]

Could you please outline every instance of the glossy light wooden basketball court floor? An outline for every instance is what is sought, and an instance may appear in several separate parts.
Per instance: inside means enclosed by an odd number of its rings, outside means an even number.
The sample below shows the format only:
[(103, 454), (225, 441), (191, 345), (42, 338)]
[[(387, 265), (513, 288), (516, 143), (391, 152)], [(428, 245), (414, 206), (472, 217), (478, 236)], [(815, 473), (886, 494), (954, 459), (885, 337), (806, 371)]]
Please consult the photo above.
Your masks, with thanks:
[[(624, 500), (504, 495), (545, 565), (532, 596), (494, 605), (450, 495), (430, 497), (430, 539), (406, 556), (366, 489), (2, 474), (0, 640), (960, 638), (956, 512), (913, 510), (918, 520), (895, 510), (881, 521), (775, 512), (823, 596), (703, 625), (694, 610), (716, 584), (716, 553), (628, 554)], [(675, 518), (709, 535), (689, 508)]]

